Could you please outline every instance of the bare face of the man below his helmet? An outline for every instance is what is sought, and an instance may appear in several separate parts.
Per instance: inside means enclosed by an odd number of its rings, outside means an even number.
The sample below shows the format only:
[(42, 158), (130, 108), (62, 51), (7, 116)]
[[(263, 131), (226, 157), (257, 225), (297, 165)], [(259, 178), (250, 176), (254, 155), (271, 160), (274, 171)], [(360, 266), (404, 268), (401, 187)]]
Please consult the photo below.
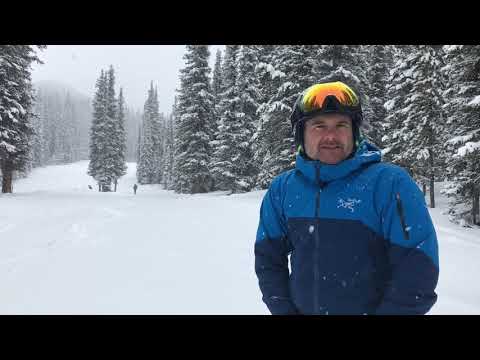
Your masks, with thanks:
[(338, 164), (353, 150), (352, 120), (343, 114), (318, 115), (305, 123), (305, 152), (313, 160)]

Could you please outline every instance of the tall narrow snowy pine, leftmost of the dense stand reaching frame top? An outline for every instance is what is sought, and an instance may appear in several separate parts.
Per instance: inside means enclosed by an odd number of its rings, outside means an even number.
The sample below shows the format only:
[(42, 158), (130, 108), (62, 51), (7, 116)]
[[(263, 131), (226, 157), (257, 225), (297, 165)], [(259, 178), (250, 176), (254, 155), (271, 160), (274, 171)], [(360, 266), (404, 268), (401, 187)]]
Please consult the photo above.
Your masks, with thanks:
[(194, 194), (213, 188), (209, 164), (215, 121), (209, 55), (207, 45), (187, 45), (183, 57), (175, 121), (176, 192)]

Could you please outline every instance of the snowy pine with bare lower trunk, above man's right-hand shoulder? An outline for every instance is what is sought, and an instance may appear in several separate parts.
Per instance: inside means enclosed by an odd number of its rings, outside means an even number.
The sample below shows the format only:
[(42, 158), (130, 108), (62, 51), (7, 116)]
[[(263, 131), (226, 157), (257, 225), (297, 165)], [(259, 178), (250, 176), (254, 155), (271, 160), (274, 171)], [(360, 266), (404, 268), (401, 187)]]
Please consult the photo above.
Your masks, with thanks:
[[(405, 53), (404, 53), (405, 54)], [(387, 102), (384, 137), (387, 158), (411, 172), (420, 183), (429, 183), (430, 206), (435, 207), (435, 179), (443, 172), (444, 100), (440, 47), (410, 47), (397, 63)]]

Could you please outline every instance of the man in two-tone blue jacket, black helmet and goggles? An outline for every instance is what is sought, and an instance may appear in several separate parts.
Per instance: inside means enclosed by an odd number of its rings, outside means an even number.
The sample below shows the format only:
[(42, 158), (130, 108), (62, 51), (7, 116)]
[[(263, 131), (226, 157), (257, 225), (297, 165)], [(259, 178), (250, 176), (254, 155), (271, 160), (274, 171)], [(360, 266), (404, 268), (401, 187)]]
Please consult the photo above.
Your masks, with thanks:
[(291, 122), (296, 167), (272, 181), (255, 242), (270, 312), (427, 313), (437, 300), (435, 230), (408, 173), (362, 139), (357, 94), (316, 84)]

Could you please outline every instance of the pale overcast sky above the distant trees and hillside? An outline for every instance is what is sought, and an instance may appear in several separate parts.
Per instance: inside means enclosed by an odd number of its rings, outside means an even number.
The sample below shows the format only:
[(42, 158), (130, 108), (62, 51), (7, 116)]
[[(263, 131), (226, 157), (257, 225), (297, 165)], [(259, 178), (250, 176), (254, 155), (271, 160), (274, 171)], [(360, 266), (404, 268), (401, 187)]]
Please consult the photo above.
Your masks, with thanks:
[[(223, 48), (209, 47), (212, 69), (217, 49)], [(170, 113), (180, 84), (179, 70), (184, 66), (185, 45), (48, 45), (38, 53), (44, 64), (33, 65), (33, 82), (60, 81), (93, 98), (100, 70), (112, 64), (116, 91), (123, 87), (129, 107), (143, 110), (153, 80), (160, 111)]]

